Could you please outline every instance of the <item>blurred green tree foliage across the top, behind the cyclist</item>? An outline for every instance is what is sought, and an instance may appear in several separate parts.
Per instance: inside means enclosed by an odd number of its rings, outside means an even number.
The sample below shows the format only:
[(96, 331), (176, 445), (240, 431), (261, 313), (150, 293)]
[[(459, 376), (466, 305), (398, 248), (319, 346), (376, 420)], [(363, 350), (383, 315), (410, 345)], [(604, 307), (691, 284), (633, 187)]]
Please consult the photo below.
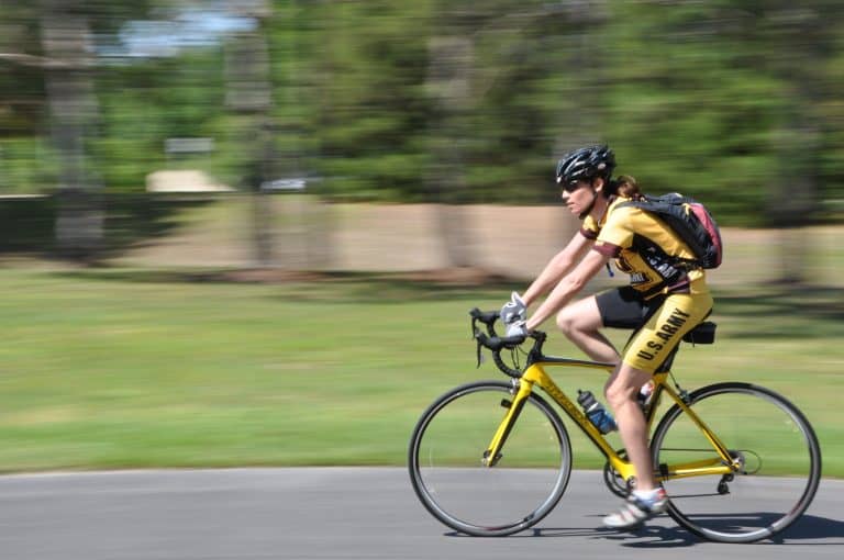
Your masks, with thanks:
[[(178, 5), (103, 0), (87, 11), (92, 30), (116, 36), (126, 21)], [(0, 20), (37, 53), (36, 8), (3, 10)], [(814, 210), (823, 211), (814, 220), (840, 220), (842, 23), (844, 4), (823, 0), (799, 9), (737, 0), (277, 1), (259, 27), (276, 158), (264, 173), (318, 176), (321, 192), (337, 199), (552, 202), (556, 158), (608, 142), (619, 170), (645, 190), (689, 192), (724, 224), (776, 225), (789, 212), (807, 221)], [(463, 41), (465, 52), (436, 55), (444, 40)], [(138, 191), (146, 173), (174, 165), (163, 153), (174, 136), (214, 138), (213, 157), (198, 164), (230, 184), (255, 176), (262, 159), (245, 142), (255, 123), (225, 102), (223, 51), (98, 68), (100, 115), (88, 144), (109, 189)], [(449, 65), (458, 78), (437, 82), (435, 70)], [(0, 134), (46, 145), (44, 72), (10, 69), (0, 74)], [(25, 157), (15, 146), (0, 146), (0, 166), (14, 173), (3, 190), (48, 188), (56, 165), (43, 161), (43, 149)], [(795, 184), (799, 212), (789, 210)]]

